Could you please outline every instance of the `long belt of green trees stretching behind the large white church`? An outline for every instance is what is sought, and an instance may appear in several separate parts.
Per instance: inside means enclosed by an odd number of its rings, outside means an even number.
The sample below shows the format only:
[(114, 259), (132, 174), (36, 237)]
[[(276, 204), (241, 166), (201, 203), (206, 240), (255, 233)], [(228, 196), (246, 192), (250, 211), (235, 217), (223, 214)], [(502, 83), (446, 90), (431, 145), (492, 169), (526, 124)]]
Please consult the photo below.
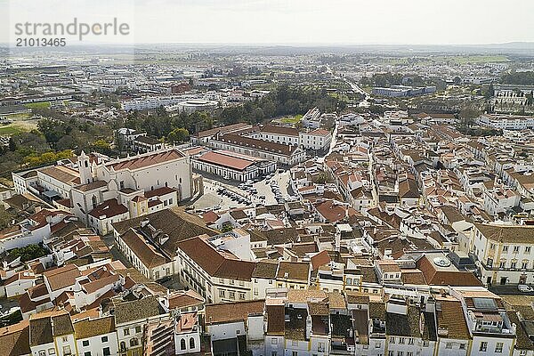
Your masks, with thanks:
[(9, 146), (0, 149), (0, 175), (9, 176), (13, 170), (53, 163), (81, 150), (115, 156), (120, 147), (111, 147), (109, 142), (114, 140), (113, 130), (119, 127), (142, 130), (166, 142), (184, 142), (190, 134), (214, 125), (263, 123), (271, 117), (304, 114), (313, 107), (331, 112), (343, 110), (345, 105), (325, 89), (280, 85), (261, 99), (215, 109), (213, 113), (181, 112), (171, 116), (165, 109), (158, 109), (152, 115), (133, 112), (125, 120), (103, 125), (94, 125), (53, 109), (34, 109), (36, 115), (44, 118), (39, 120), (37, 130), (13, 135)]

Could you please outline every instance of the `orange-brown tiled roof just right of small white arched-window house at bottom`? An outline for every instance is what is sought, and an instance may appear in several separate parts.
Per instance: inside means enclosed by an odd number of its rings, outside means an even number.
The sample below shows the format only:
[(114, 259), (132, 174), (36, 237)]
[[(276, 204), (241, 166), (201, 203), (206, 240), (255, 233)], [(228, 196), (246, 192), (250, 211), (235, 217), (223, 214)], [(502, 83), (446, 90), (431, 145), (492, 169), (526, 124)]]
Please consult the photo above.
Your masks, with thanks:
[(247, 301), (206, 305), (206, 325), (247, 320), (249, 315), (263, 314), (265, 301)]

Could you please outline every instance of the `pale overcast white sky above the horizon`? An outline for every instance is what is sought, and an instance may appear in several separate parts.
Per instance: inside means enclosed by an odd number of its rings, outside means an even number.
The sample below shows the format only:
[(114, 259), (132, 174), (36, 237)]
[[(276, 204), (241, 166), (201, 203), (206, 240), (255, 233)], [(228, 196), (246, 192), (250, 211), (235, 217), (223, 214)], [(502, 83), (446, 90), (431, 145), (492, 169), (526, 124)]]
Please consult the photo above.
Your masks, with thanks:
[(532, 14), (524, 0), (0, 0), (0, 43), (16, 23), (76, 17), (130, 28), (87, 43), (498, 44), (534, 42)]

